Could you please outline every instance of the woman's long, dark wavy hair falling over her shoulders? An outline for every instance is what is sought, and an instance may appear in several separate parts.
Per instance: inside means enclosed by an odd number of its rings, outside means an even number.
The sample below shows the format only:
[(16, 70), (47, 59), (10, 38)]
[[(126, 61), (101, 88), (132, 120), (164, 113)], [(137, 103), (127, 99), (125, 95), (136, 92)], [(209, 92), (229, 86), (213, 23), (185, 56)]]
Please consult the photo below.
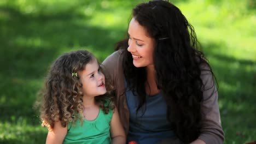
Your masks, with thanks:
[[(139, 4), (133, 9), (132, 17), (147, 29), (149, 37), (155, 39), (156, 83), (166, 100), (168, 121), (180, 140), (184, 143), (194, 141), (202, 127), (202, 65), (212, 73), (203, 53), (198, 50), (194, 28), (181, 10), (166, 1)], [(115, 50), (124, 49), (125, 79), (132, 92), (137, 93), (140, 109), (146, 103), (147, 73), (145, 68), (133, 65), (127, 47), (128, 38), (117, 43)]]

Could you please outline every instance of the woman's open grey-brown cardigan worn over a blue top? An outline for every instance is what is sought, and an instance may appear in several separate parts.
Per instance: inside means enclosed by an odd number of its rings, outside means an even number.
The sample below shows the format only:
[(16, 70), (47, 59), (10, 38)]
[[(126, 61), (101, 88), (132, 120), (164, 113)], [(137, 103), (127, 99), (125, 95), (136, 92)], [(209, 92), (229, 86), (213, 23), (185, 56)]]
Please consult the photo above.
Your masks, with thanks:
[[(122, 50), (115, 51), (102, 63), (106, 77), (111, 80), (115, 88), (115, 105), (119, 111), (120, 121), (127, 134), (129, 129), (129, 110), (127, 108), (123, 73)], [(203, 125), (198, 139), (208, 143), (223, 143), (224, 132), (222, 130), (218, 106), (218, 93), (214, 85), (212, 74), (209, 71), (202, 71), (201, 79), (206, 91), (203, 92), (202, 113)], [(168, 143), (181, 143), (179, 140), (168, 140)]]

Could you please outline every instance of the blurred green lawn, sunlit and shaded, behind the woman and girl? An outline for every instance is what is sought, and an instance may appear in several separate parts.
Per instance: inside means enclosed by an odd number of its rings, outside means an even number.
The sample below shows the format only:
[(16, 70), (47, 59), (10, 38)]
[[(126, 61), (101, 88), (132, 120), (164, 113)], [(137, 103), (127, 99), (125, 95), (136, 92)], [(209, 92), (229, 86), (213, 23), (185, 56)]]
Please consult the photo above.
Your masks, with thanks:
[[(45, 142), (33, 104), (51, 62), (79, 49), (102, 62), (140, 2), (0, 1), (0, 143)], [(216, 74), (225, 143), (256, 140), (256, 2), (172, 2), (195, 27)]]

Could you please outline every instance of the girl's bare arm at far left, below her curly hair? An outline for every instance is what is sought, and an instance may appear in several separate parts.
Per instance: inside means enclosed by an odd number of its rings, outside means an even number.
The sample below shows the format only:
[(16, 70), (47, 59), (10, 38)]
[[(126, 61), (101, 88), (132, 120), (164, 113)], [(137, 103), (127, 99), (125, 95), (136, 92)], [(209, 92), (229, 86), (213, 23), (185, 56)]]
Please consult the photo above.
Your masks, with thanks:
[(63, 128), (61, 122), (55, 122), (54, 128), (51, 131), (48, 131), (46, 138), (46, 144), (51, 143), (62, 143), (67, 134), (67, 126)]

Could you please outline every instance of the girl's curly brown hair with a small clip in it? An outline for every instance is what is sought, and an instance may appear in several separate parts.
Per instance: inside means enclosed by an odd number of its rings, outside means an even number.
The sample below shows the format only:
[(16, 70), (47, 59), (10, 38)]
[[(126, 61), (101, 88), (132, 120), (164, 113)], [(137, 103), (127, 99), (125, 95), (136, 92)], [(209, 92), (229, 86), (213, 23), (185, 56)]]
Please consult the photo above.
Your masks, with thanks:
[[(72, 73), (84, 70), (85, 65), (95, 58), (92, 53), (86, 50), (78, 50), (65, 53), (51, 65), (49, 74), (46, 77), (45, 86), (40, 91), (40, 118), (42, 126), (49, 130), (54, 128), (54, 123), (61, 122), (62, 127), (66, 127), (68, 122), (82, 121), (83, 117), (83, 93), (82, 83), (78, 76), (72, 76)], [(95, 102), (104, 113), (114, 106), (110, 94), (109, 82), (106, 76), (107, 93), (95, 97)]]

